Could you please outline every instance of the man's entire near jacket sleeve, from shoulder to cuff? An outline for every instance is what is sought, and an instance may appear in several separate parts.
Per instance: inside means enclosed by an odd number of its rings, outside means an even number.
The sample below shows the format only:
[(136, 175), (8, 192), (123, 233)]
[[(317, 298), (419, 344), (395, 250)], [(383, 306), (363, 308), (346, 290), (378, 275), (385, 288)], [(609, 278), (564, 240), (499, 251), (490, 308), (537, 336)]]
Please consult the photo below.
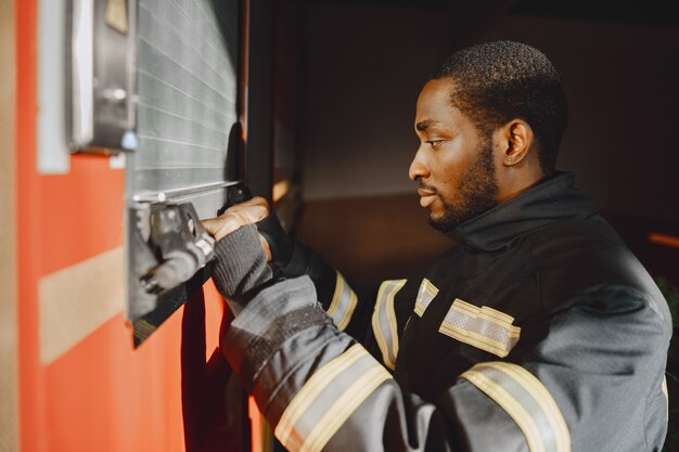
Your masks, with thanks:
[[(668, 333), (642, 296), (587, 294), (553, 313), (550, 334), (521, 357), (489, 358), (433, 400), (403, 392), (317, 298), (308, 276), (278, 282), (221, 338), (289, 450), (622, 451), (639, 429), (666, 428)], [(626, 423), (639, 410), (643, 425)]]

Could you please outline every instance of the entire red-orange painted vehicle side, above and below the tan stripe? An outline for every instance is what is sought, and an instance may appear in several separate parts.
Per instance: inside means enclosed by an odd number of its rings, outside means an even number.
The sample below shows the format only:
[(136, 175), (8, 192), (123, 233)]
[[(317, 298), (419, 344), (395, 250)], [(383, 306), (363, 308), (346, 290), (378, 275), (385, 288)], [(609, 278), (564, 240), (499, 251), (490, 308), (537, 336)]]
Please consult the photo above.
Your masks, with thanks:
[[(47, 274), (123, 244), (124, 171), (110, 169), (106, 157), (79, 155), (72, 157), (68, 175), (37, 173), (36, 23), (37, 0), (17, 1), (21, 450), (183, 451), (183, 309), (137, 350), (120, 313), (49, 366), (40, 363), (38, 283)], [(217, 346), (222, 313), (212, 283), (206, 286), (205, 305), (209, 356)]]

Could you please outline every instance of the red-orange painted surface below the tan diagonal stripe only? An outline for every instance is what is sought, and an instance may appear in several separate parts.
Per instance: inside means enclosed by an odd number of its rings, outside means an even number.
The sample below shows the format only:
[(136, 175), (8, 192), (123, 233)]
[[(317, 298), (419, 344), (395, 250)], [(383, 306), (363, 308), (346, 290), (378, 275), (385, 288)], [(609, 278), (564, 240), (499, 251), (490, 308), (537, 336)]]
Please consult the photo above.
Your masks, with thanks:
[[(206, 285), (206, 357), (222, 301)], [(44, 370), (50, 451), (183, 451), (181, 321), (168, 319), (139, 349), (116, 315)]]

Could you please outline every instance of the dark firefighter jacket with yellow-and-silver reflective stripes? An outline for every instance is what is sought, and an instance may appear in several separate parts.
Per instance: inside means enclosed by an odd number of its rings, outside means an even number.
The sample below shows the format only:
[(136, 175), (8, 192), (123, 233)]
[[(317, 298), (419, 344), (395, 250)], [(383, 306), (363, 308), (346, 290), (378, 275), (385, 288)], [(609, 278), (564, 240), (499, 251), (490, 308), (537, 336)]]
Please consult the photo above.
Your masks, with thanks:
[(452, 235), (425, 273), (381, 285), (361, 343), (343, 332), (359, 336), (356, 294), (317, 254), (295, 244), (272, 274), (255, 227), (218, 243), (236, 311), (222, 352), (283, 445), (659, 451), (667, 304), (573, 176)]

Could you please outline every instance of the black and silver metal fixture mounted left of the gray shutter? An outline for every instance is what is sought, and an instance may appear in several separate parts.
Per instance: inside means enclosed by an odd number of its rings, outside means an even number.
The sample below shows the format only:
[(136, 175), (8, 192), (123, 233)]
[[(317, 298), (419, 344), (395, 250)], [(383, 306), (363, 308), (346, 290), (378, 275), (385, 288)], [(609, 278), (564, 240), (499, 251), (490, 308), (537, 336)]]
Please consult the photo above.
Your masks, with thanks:
[[(136, 9), (131, 0), (69, 0), (69, 145), (116, 153), (134, 129)], [(133, 146), (131, 146), (133, 147)]]

